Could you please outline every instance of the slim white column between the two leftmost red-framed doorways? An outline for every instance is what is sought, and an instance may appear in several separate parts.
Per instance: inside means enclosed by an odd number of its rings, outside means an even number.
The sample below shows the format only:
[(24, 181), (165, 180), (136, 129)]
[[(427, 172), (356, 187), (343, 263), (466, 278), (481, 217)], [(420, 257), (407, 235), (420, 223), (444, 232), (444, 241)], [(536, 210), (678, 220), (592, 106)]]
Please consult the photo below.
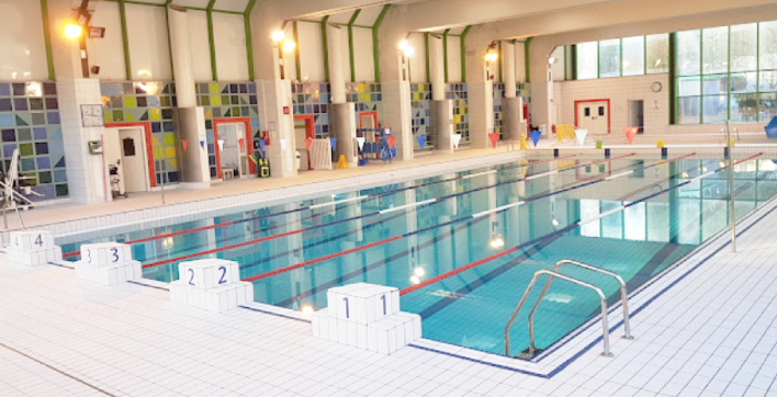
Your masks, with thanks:
[(194, 92), (194, 70), (187, 10), (179, 5), (168, 5), (168, 22), (170, 23), (170, 49), (176, 75), (178, 107), (194, 107), (196, 106), (196, 94)]

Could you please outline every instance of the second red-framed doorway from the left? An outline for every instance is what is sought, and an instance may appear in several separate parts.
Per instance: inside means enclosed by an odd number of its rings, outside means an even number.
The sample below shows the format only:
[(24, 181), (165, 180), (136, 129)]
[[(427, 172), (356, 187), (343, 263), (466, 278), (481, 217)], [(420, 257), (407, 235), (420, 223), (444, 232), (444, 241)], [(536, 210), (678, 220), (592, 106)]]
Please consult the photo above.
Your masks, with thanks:
[(222, 180), (249, 175), (249, 143), (246, 143), (246, 125), (244, 123), (218, 123), (215, 129)]

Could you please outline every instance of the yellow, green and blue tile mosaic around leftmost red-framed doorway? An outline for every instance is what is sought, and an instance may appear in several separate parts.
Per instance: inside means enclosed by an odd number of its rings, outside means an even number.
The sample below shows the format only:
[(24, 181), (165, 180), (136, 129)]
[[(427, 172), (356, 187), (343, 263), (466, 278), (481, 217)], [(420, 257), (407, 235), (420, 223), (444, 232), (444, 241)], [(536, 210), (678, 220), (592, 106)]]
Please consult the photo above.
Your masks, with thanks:
[(148, 122), (157, 185), (178, 183), (177, 138), (173, 129), (176, 84), (170, 81), (102, 82), (105, 126)]

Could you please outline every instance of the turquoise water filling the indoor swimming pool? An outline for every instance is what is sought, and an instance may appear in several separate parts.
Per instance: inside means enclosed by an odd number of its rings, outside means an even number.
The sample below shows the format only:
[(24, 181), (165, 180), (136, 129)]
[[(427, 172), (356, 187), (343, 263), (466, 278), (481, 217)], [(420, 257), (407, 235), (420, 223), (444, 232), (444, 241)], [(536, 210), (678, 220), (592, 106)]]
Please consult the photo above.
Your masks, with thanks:
[[(574, 259), (618, 273), (633, 291), (728, 224), (728, 171), (723, 171), (578, 225), (716, 170), (719, 160), (686, 158), (661, 166), (655, 166), (660, 160), (633, 156), (589, 166), (603, 158), (530, 160), (548, 161), (441, 174), (105, 236), (101, 241), (133, 241), (204, 228), (133, 243), (134, 258), (144, 264), (171, 260), (146, 269), (145, 277), (169, 282), (177, 279), (178, 258), (239, 245), (192, 259), (237, 261), (244, 279), (301, 264), (254, 281), (257, 302), (292, 309), (326, 307), (326, 291), (334, 286), (367, 282), (406, 288), (520, 246), (513, 253), (402, 297), (403, 310), (421, 315), (425, 338), (503, 354), (504, 327), (536, 271)], [(556, 169), (562, 171), (542, 175)], [(634, 172), (600, 181), (629, 170)], [(495, 172), (485, 173), (488, 171)], [(473, 177), (461, 178), (468, 174)], [(537, 177), (526, 180), (530, 175)], [(777, 193), (777, 173), (770, 160), (737, 165), (734, 178), (739, 217)], [(372, 196), (353, 200), (367, 194)], [(442, 198), (376, 214), (437, 197)], [(523, 205), (472, 217), (527, 198)], [(311, 208), (333, 200), (353, 201)], [(76, 251), (80, 243), (65, 245), (64, 251)], [(562, 272), (600, 286), (610, 303), (618, 299), (618, 285), (611, 279), (573, 266)], [(529, 306), (540, 288), (536, 290)], [(537, 345), (549, 347), (598, 315), (598, 298), (590, 291), (554, 282), (536, 316)], [(511, 329), (514, 354), (528, 345), (528, 308), (523, 311)]]

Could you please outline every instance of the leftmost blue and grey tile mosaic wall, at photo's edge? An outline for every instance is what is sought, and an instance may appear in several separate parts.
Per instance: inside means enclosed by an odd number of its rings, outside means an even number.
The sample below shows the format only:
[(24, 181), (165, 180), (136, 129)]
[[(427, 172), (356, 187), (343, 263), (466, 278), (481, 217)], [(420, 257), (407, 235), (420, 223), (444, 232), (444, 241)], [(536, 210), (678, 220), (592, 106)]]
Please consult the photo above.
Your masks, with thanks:
[(19, 149), (21, 185), (40, 194), (32, 201), (68, 195), (65, 144), (54, 82), (0, 82), (0, 135), (2, 172)]

